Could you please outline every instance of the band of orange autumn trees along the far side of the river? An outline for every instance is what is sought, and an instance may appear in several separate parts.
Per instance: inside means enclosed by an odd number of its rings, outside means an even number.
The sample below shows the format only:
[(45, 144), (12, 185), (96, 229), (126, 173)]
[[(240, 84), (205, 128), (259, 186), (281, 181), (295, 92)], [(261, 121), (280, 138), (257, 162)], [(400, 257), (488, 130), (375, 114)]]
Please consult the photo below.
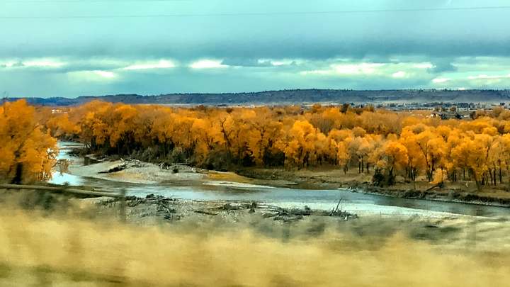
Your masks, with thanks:
[[(183, 108), (101, 101), (53, 111), (16, 101), (4, 103), (0, 113), (0, 171), (6, 176), (13, 163), (26, 161), (36, 178), (47, 179), (55, 138), (62, 138), (97, 154), (208, 169), (327, 165), (372, 174), (378, 185), (421, 176), (434, 184), (510, 186), (510, 111), (500, 107), (450, 120), (371, 106)], [(23, 142), (29, 133), (33, 140)]]

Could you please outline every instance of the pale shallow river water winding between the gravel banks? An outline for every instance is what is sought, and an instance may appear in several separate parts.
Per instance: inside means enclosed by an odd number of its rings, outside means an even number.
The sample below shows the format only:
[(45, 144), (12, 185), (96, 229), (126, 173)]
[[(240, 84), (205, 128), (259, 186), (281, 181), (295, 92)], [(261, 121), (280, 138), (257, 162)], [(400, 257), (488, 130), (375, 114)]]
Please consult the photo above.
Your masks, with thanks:
[[(67, 155), (69, 143), (61, 143), (60, 158)], [(355, 193), (346, 189), (310, 190), (276, 188), (271, 186), (237, 185), (229, 182), (208, 181), (197, 184), (128, 184), (105, 179), (87, 178), (72, 174), (55, 173), (53, 184), (73, 186), (93, 186), (113, 191), (125, 188), (130, 196), (145, 197), (156, 194), (174, 198), (203, 201), (259, 201), (278, 204), (282, 207), (309, 206), (314, 209), (330, 210), (341, 199), (343, 210), (358, 214), (380, 215), (427, 215), (444, 216), (449, 214), (477, 216), (508, 216), (510, 208), (480, 206), (465, 203), (446, 203), (418, 199), (391, 198), (365, 193)]]

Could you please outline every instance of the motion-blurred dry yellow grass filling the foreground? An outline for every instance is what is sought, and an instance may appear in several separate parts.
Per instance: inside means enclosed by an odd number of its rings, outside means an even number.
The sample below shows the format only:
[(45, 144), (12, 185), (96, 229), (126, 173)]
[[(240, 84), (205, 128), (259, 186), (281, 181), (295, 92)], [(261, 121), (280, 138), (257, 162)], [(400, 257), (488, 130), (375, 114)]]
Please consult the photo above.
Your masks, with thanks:
[[(271, 237), (250, 227), (138, 227), (0, 213), (0, 286), (506, 286), (508, 249), (471, 252), (327, 228)], [(239, 227), (239, 226), (238, 226)], [(282, 227), (285, 230), (285, 226)]]

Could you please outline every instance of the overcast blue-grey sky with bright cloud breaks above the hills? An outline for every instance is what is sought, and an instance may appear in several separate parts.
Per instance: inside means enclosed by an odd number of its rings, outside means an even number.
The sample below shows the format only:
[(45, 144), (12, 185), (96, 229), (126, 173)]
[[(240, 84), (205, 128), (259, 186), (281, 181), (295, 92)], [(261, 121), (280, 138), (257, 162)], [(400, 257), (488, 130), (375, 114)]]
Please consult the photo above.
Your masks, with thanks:
[(0, 0), (0, 94), (510, 89), (508, 0)]

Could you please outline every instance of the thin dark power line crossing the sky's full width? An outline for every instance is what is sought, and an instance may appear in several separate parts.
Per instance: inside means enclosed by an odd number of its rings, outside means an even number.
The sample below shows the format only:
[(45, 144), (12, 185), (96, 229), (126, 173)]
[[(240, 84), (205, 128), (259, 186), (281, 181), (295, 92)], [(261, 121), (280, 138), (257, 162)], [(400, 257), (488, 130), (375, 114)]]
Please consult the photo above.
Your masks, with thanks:
[[(140, 0), (137, 0), (140, 1)], [(203, 14), (148, 14), (148, 15), (77, 15), (77, 16), (0, 16), (0, 19), (80, 19), (80, 18), (183, 18), (183, 17), (233, 17), (233, 16), (286, 16), (286, 15), (327, 15), (356, 13), (392, 13), (427, 11), (476, 11), (510, 9), (510, 6), (450, 7), (425, 9), (380, 9), (346, 11), (295, 11), (295, 12), (248, 12), (248, 13), (203, 13)]]

